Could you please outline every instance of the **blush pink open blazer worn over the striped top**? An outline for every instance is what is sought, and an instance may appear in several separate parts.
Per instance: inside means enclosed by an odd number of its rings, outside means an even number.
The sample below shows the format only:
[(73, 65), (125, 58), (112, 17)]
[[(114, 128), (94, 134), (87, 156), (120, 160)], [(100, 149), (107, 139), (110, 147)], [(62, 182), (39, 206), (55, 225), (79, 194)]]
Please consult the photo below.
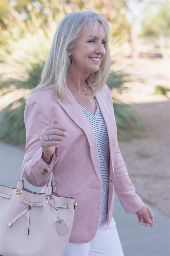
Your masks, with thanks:
[[(69, 242), (87, 243), (98, 228), (100, 212), (101, 178), (98, 150), (89, 121), (68, 90), (71, 102), (58, 102), (53, 98), (52, 86), (29, 96), (24, 112), (26, 148), (24, 162), (25, 179), (36, 187), (43, 187), (53, 171), (58, 196), (74, 197), (77, 202), (75, 219)], [(125, 211), (133, 214), (144, 203), (136, 194), (129, 179), (117, 140), (112, 96), (105, 85), (95, 95), (106, 123), (110, 148), (110, 175), (107, 224), (113, 215), (114, 193)], [(50, 165), (41, 158), (40, 134), (57, 117), (60, 125), (68, 130), (67, 136), (58, 144)], [(45, 170), (45, 173), (43, 172)], [(43, 174), (42, 174), (43, 173)]]

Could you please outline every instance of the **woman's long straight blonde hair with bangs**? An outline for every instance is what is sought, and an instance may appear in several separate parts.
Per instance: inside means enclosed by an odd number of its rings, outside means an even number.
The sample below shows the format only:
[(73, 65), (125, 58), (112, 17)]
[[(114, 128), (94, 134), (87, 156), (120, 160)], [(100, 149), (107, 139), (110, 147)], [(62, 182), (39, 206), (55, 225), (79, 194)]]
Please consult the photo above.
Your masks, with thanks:
[(106, 54), (99, 66), (99, 70), (90, 73), (87, 81), (89, 85), (93, 87), (91, 92), (93, 96), (105, 85), (109, 76), (111, 63), (108, 44), (110, 38), (109, 24), (101, 15), (91, 10), (71, 12), (58, 24), (40, 82), (28, 95), (32, 95), (38, 90), (47, 89), (48, 86), (53, 84), (53, 96), (56, 100), (61, 99), (63, 101), (69, 99), (67, 97), (66, 85), (67, 72), (70, 67), (68, 50), (74, 48), (83, 28), (84, 31), (87, 31), (88, 35), (90, 31), (92, 31), (94, 35), (98, 22), (100, 22), (104, 28)]

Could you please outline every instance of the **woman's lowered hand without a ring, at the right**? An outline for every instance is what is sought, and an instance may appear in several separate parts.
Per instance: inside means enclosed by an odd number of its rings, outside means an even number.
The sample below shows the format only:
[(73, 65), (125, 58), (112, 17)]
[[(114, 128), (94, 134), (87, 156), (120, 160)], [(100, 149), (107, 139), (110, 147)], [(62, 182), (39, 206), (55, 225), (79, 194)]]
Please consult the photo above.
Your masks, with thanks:
[(151, 211), (151, 208), (148, 205), (144, 205), (139, 211), (135, 212), (137, 215), (138, 223), (141, 222), (141, 225), (147, 227), (150, 225), (151, 227), (154, 226), (154, 214)]

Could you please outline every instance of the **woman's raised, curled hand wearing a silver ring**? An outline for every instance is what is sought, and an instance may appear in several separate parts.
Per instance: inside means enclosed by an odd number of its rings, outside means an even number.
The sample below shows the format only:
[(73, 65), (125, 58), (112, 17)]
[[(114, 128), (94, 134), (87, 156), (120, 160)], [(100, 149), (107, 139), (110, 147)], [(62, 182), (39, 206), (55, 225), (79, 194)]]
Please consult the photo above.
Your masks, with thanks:
[[(43, 149), (43, 156), (46, 160), (49, 160), (56, 150), (56, 147), (64, 137), (67, 136), (65, 133), (67, 129), (59, 125), (58, 119), (54, 118), (51, 125), (45, 127), (40, 134), (41, 147)], [(46, 141), (45, 137), (49, 135), (50, 141)]]

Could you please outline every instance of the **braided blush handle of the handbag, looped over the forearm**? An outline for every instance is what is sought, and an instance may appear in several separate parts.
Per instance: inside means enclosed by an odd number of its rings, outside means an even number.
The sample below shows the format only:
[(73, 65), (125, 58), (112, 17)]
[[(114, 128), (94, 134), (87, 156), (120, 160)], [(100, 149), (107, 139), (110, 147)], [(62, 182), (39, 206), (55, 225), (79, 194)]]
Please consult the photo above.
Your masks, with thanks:
[[(25, 174), (25, 169), (26, 169), (26, 165), (31, 161), (28, 160), (27, 162), (24, 163), (24, 165), (21, 168), (20, 171), (20, 179), (18, 181), (17, 187), (16, 187), (16, 191), (15, 193), (21, 194), (22, 193), (22, 189), (24, 188), (24, 174)], [(47, 188), (46, 188), (46, 196), (50, 196), (52, 192), (56, 193), (56, 185), (55, 185), (55, 179), (54, 179), (54, 175), (53, 172), (51, 172), (49, 179), (48, 179), (48, 183), (47, 183)]]

